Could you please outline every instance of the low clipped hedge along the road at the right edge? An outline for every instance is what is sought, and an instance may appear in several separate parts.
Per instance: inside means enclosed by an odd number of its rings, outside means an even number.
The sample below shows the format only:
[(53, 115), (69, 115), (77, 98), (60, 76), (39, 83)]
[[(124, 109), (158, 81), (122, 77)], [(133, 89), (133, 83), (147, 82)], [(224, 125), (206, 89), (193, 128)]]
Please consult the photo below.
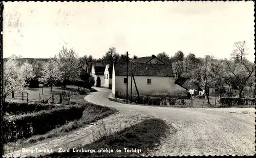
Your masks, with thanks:
[(254, 98), (222, 97), (219, 102), (224, 106), (255, 105)]

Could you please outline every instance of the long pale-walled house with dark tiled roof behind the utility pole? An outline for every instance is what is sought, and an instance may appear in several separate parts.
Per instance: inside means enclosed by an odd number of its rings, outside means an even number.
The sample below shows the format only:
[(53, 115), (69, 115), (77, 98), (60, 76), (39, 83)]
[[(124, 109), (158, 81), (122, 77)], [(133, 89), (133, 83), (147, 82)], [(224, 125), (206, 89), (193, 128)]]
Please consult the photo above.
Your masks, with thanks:
[[(126, 63), (116, 63), (112, 71), (112, 93), (115, 96), (131, 93), (131, 74), (133, 72), (136, 85), (141, 95), (168, 93), (169, 95), (187, 95), (184, 87), (175, 84), (175, 75), (170, 64), (153, 64), (130, 62), (128, 66), (128, 80), (126, 79)], [(134, 81), (132, 94), (136, 95)]]

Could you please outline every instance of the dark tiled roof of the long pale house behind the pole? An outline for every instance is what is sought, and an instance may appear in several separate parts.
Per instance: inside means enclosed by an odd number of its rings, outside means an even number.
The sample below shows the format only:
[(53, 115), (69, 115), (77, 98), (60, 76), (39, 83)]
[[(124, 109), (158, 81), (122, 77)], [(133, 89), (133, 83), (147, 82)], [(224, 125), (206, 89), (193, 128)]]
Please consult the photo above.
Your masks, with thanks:
[[(131, 70), (134, 76), (166, 76), (174, 77), (172, 66), (169, 64), (149, 64), (130, 62), (128, 66), (128, 75), (131, 76)], [(115, 64), (115, 75), (126, 76), (126, 63)]]

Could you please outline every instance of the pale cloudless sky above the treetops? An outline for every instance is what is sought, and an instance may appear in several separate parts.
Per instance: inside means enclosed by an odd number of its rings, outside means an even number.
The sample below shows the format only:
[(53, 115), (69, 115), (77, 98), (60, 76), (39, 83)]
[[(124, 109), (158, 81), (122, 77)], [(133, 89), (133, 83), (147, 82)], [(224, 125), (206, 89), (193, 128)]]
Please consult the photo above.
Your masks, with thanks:
[(50, 58), (62, 46), (101, 58), (110, 47), (130, 57), (182, 50), (230, 58), (245, 40), (254, 61), (254, 2), (7, 2), (3, 57)]

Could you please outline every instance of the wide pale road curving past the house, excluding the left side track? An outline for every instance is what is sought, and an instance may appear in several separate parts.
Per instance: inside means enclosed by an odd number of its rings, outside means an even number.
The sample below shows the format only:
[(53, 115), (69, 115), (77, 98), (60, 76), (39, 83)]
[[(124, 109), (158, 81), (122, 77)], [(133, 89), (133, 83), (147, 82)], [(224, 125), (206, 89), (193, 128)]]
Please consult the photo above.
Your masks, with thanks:
[(254, 155), (254, 108), (170, 108), (110, 101), (109, 89), (84, 99), (116, 108), (122, 115), (147, 115), (165, 120), (176, 132), (169, 134), (151, 155)]

